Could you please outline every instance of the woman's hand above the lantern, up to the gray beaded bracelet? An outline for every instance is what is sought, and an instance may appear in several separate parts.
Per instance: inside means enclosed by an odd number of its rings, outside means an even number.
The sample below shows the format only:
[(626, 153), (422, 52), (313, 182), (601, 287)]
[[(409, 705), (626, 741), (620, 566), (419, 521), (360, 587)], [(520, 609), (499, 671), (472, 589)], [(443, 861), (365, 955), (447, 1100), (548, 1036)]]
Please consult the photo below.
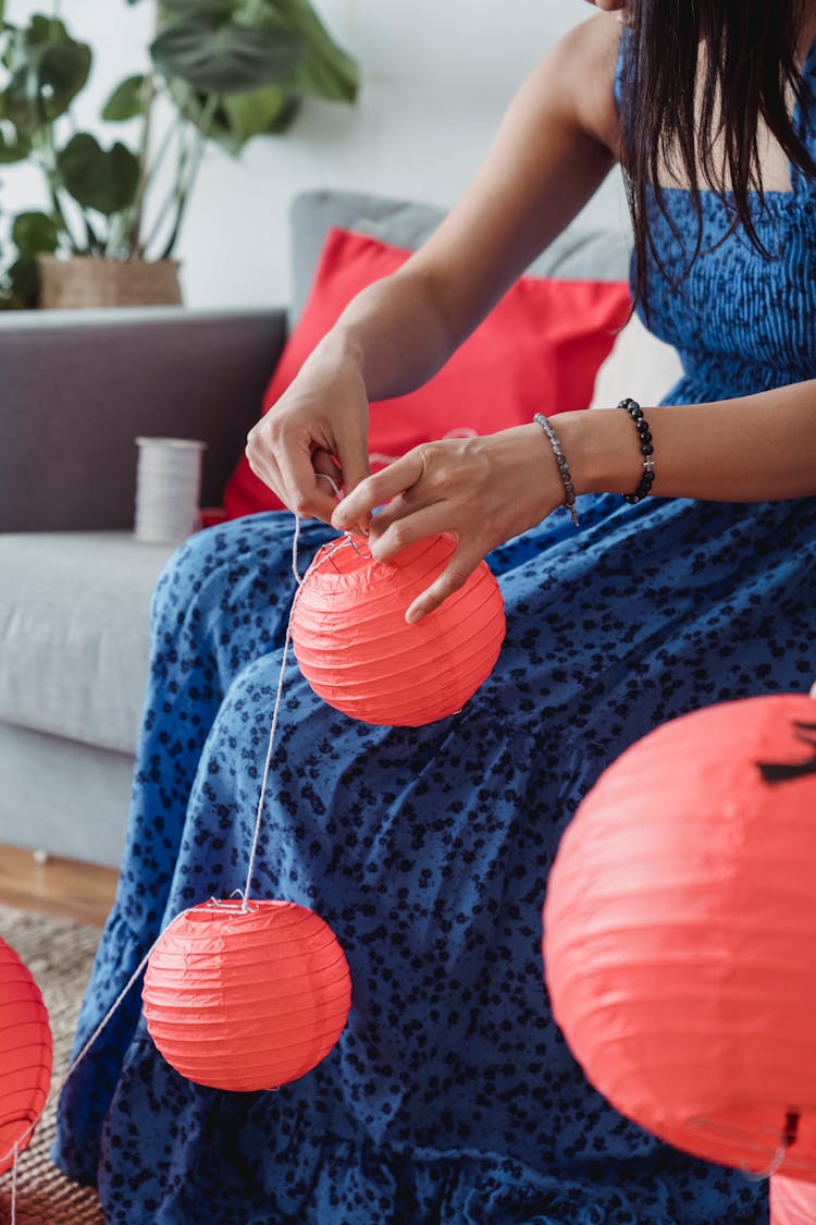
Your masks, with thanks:
[[(332, 524), (368, 535), (378, 561), (438, 532), (456, 537), (450, 562), (405, 614), (414, 624), (458, 590), (486, 554), (540, 523), (563, 500), (541, 429), (519, 425), (415, 447), (362, 480), (335, 507)], [(377, 506), (383, 510), (374, 514)]]

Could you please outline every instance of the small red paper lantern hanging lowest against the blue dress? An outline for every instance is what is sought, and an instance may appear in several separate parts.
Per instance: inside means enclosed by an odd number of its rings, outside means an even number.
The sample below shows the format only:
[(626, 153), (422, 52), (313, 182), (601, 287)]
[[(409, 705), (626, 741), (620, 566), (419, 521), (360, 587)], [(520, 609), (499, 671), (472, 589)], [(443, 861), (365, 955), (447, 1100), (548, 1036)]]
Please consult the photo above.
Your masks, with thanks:
[(292, 902), (204, 902), (150, 953), (147, 1028), (176, 1072), (214, 1089), (275, 1089), (328, 1055), (351, 981), (332, 929)]

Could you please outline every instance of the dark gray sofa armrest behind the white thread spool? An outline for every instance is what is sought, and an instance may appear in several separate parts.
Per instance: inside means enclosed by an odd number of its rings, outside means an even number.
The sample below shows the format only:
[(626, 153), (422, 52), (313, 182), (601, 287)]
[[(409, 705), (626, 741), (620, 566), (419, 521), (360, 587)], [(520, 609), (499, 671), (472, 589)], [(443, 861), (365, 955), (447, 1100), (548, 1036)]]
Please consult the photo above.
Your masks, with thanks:
[(132, 527), (137, 435), (207, 442), (217, 505), (285, 328), (283, 309), (0, 316), (0, 530)]

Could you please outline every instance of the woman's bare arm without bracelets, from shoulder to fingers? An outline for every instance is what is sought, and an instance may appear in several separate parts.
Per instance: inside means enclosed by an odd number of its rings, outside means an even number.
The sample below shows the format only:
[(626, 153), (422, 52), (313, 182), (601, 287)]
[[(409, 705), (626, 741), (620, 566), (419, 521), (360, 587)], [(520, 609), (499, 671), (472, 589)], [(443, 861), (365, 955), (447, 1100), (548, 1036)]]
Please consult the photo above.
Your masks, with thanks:
[(294, 511), (330, 518), (317, 474), (347, 491), (367, 475), (368, 401), (429, 379), (607, 175), (619, 34), (599, 15), (538, 65), (461, 202), (399, 272), (351, 303), (252, 430), (253, 470)]

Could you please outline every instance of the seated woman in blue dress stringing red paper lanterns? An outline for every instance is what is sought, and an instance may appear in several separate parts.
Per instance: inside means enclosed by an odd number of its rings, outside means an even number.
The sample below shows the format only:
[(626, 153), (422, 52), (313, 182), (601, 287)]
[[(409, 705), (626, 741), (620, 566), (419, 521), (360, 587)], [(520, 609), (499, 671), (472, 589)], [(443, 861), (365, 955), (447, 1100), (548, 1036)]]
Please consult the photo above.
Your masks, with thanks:
[[(816, 2), (597, 6), (625, 32), (598, 13), (559, 44), (450, 218), (252, 431), (256, 470), (324, 521), (303, 559), (328, 521), (380, 559), (454, 532), (409, 620), (489, 552), (508, 637), (465, 710), (416, 730), (354, 723), (290, 670), (253, 893), (333, 926), (349, 1025), (303, 1079), (225, 1095), (177, 1077), (130, 1000), (61, 1106), (59, 1160), (98, 1180), (109, 1221), (767, 1219), (765, 1188), (587, 1085), (548, 1014), (540, 913), (565, 824), (628, 745), (816, 671)], [(647, 407), (648, 431), (634, 409), (560, 414), (557, 432), (434, 443), (368, 475), (368, 399), (428, 377), (618, 157), (639, 299), (684, 359), (674, 407)], [(573, 489), (591, 495), (577, 533), (553, 513)], [(239, 521), (160, 581), (122, 883), (78, 1040), (163, 922), (242, 883), (290, 541), (287, 517)]]

